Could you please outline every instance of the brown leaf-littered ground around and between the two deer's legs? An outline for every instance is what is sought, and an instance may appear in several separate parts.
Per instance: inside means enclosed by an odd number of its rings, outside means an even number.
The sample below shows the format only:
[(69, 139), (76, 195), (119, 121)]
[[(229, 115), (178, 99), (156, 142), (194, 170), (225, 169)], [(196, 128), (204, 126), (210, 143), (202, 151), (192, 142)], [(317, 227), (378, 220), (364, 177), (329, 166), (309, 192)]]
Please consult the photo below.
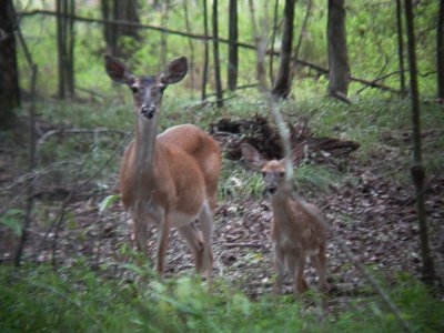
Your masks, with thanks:
[[(24, 168), (17, 164), (16, 139), (3, 139), (0, 140), (0, 205), (4, 208), (1, 211), (4, 216), (8, 205), (23, 193), (26, 182), (20, 180)], [(380, 159), (385, 158), (380, 155)], [(321, 208), (340, 234), (340, 239), (331, 235), (327, 246), (329, 271), (337, 292), (359, 293), (365, 282), (341, 251), (339, 242), (345, 243), (355, 260), (369, 265), (377, 276), (385, 276), (389, 281), (396, 272), (420, 276), (422, 262), (413, 185), (400, 185), (384, 178), (372, 163), (362, 165), (353, 154), (344, 159), (349, 159), (347, 175), (353, 182), (331, 185), (326, 192), (306, 193), (306, 200)], [(379, 162), (374, 160), (374, 164)], [(426, 185), (435, 269), (440, 276), (444, 276), (444, 175), (428, 179)], [(37, 209), (26, 244), (26, 261), (70, 265), (82, 254), (89, 264), (100, 266), (113, 276), (132, 279), (134, 272), (122, 265), (131, 261), (128, 248), (125, 250), (131, 243), (130, 216), (123, 212), (120, 202), (111, 204), (104, 213), (100, 213), (97, 204), (113, 194), (112, 191), (97, 191), (89, 185), (54, 190), (48, 183), (40, 188), (37, 184), (34, 191), (39, 195), (36, 195)], [(44, 210), (43, 216), (43, 210), (38, 208), (49, 205), (52, 209)], [(271, 219), (272, 211), (265, 196), (253, 200), (228, 195), (219, 202), (215, 211), (213, 276), (222, 278), (253, 299), (272, 290)], [(41, 222), (44, 220), (50, 222)], [(0, 225), (0, 231), (6, 240), (0, 244), (0, 259), (6, 262), (12, 258), (16, 239), (3, 225)], [(149, 243), (151, 253), (154, 243), (154, 240)], [(175, 231), (170, 236), (165, 263), (168, 275), (193, 270), (191, 251)], [(315, 286), (312, 269), (306, 276), (309, 284)], [(290, 290), (290, 284), (286, 284), (286, 291)]]

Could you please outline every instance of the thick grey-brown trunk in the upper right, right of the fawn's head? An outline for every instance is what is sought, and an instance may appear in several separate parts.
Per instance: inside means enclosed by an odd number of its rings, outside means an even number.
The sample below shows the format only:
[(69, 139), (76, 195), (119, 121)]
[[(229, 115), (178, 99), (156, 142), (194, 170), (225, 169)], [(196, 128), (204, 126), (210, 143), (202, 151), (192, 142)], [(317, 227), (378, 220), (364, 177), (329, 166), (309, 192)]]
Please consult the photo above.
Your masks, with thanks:
[(349, 91), (349, 54), (345, 32), (344, 0), (329, 0), (329, 93), (346, 97)]

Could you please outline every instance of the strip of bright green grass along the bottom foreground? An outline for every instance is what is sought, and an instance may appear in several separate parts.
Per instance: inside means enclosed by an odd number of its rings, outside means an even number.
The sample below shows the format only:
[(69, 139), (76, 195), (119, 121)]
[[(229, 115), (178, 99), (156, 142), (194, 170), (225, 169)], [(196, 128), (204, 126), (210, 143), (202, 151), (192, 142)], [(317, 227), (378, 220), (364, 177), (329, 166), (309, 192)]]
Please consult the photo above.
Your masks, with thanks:
[[(400, 276), (391, 297), (413, 332), (440, 332), (444, 304), (423, 284)], [(310, 297), (310, 296), (307, 296)], [(264, 295), (256, 301), (216, 281), (164, 283), (105, 279), (82, 264), (54, 273), (46, 265), (0, 266), (2, 332), (400, 332), (377, 299), (333, 307), (323, 321), (310, 302)]]

